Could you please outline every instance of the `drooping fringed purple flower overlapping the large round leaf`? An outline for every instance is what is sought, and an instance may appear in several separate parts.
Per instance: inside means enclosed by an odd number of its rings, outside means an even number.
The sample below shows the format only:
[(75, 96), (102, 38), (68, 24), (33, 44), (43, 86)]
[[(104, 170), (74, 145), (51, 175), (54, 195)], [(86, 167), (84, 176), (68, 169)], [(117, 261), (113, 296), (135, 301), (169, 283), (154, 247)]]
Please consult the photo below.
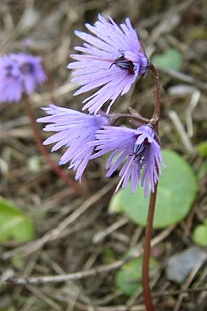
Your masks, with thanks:
[[(155, 191), (155, 184), (158, 181), (158, 173), (161, 174), (160, 164), (162, 162), (160, 155), (160, 146), (155, 141), (155, 131), (149, 125), (139, 126), (137, 130), (127, 129), (118, 126), (105, 126), (97, 131), (96, 141), (90, 143), (95, 145), (97, 153), (90, 159), (102, 156), (105, 153), (113, 151), (106, 164), (109, 177), (114, 173), (125, 160), (124, 166), (119, 172), (121, 180), (115, 189), (115, 192), (122, 184), (125, 188), (128, 181), (131, 180), (131, 192), (134, 194), (135, 187), (139, 187), (139, 178), (141, 178), (141, 187), (144, 187), (144, 196), (148, 194), (149, 184), (152, 192)], [(115, 160), (115, 162), (112, 162)], [(164, 163), (162, 162), (164, 165)], [(157, 167), (157, 169), (156, 169)]]

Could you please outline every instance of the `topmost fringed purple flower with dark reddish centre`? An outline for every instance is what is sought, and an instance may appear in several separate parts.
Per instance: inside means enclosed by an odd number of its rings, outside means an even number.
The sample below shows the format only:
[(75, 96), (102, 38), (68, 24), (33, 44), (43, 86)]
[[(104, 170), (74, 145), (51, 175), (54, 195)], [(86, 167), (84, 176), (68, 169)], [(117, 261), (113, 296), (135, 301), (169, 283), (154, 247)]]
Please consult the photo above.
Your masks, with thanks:
[(68, 64), (68, 68), (75, 69), (72, 82), (79, 82), (81, 88), (74, 95), (99, 88), (93, 95), (87, 97), (83, 109), (90, 113), (99, 111), (101, 106), (111, 100), (110, 106), (117, 97), (124, 95), (137, 75), (144, 75), (148, 68), (148, 59), (141, 53), (137, 32), (132, 28), (130, 19), (117, 26), (109, 17), (107, 21), (101, 15), (94, 26), (86, 23), (86, 28), (92, 32), (75, 31), (75, 34), (86, 41), (83, 46), (76, 46), (83, 55), (71, 55), (78, 62)]

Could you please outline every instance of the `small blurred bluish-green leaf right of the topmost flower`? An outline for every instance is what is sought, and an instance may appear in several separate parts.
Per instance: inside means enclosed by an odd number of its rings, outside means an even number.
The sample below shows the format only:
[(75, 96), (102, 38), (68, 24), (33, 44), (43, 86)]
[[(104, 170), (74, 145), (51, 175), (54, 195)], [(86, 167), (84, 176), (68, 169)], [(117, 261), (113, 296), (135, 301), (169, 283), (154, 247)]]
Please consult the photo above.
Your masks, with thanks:
[(152, 64), (167, 69), (179, 70), (182, 64), (181, 53), (175, 48), (168, 48), (163, 54), (152, 56)]

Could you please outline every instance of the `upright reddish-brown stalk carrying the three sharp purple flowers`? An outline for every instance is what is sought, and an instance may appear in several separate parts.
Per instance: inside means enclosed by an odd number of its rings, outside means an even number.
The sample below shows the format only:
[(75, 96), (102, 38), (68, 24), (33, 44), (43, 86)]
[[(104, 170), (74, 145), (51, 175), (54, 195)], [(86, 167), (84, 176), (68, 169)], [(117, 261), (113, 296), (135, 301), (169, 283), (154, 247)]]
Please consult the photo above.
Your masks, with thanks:
[[(155, 109), (152, 115), (152, 119), (155, 120), (154, 130), (158, 134), (158, 122), (159, 122), (159, 112), (160, 112), (160, 83), (157, 70), (155, 66), (150, 63), (149, 69), (152, 70), (154, 79), (155, 79)], [(159, 143), (159, 142), (158, 142)], [(157, 196), (157, 184), (155, 185), (154, 193), (150, 194), (150, 204), (148, 209), (148, 219), (145, 229), (144, 237), (144, 254), (143, 254), (143, 263), (142, 263), (142, 288), (143, 288), (143, 298), (146, 305), (147, 311), (155, 311), (155, 307), (152, 303), (152, 297), (149, 286), (149, 267), (150, 267), (150, 249), (151, 249), (151, 238), (152, 238), (152, 225), (155, 213), (155, 202)]]

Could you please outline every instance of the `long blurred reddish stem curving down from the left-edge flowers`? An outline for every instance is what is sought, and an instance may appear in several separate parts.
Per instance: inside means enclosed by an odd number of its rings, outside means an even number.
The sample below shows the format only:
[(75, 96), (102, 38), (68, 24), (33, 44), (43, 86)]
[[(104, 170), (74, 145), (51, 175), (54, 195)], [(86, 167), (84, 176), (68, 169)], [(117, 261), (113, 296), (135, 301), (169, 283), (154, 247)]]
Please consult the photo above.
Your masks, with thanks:
[(26, 102), (26, 112), (27, 112), (28, 117), (30, 119), (30, 124), (32, 127), (32, 133), (33, 133), (34, 141), (36, 142), (39, 151), (46, 158), (46, 161), (48, 162), (48, 164), (50, 164), (50, 167), (52, 168), (53, 171), (55, 171), (57, 176), (59, 176), (61, 179), (63, 179), (70, 187), (72, 187), (77, 192), (77, 194), (81, 194), (83, 196), (83, 191), (81, 191), (80, 187), (78, 187), (77, 184), (73, 180), (71, 180), (68, 177), (68, 175), (66, 175), (66, 173), (59, 167), (59, 165), (56, 164), (50, 158), (50, 156), (48, 155), (48, 151), (46, 151), (45, 147), (43, 147), (43, 144), (41, 142), (41, 138), (39, 137), (39, 133), (37, 131), (36, 123), (34, 121), (30, 102), (29, 102), (28, 97), (26, 95), (24, 95), (24, 100)]

